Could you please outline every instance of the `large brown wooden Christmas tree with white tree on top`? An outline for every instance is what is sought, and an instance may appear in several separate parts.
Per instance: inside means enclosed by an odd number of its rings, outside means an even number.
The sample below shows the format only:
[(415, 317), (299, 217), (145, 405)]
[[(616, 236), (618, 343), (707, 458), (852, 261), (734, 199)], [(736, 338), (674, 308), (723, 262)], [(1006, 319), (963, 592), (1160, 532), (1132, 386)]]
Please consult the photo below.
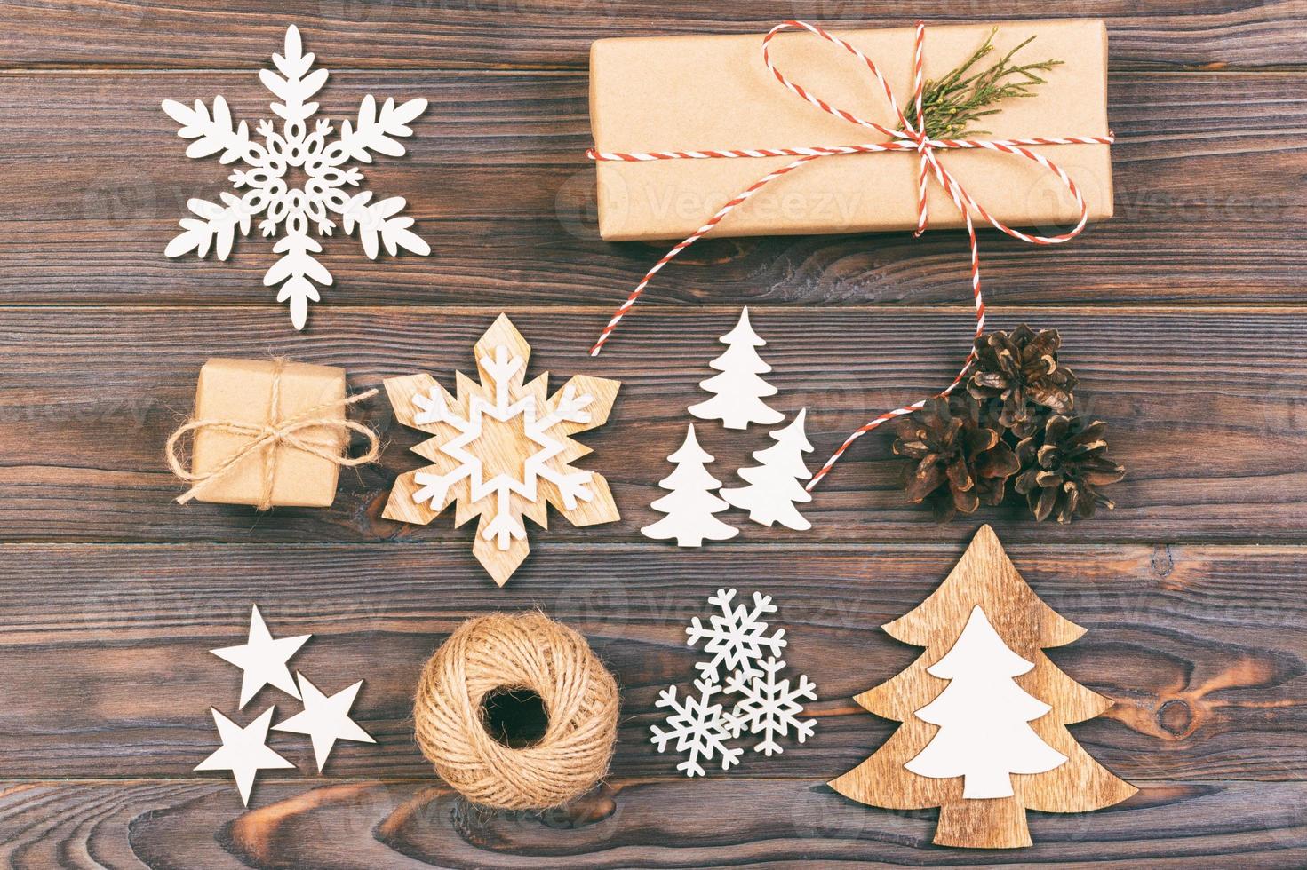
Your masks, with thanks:
[(1035, 596), (988, 525), (940, 588), (885, 631), (925, 653), (855, 699), (903, 725), (830, 782), (840, 794), (940, 807), (937, 845), (1004, 849), (1031, 844), (1026, 810), (1100, 810), (1137, 790), (1067, 730), (1112, 705), (1042, 652), (1085, 630)]

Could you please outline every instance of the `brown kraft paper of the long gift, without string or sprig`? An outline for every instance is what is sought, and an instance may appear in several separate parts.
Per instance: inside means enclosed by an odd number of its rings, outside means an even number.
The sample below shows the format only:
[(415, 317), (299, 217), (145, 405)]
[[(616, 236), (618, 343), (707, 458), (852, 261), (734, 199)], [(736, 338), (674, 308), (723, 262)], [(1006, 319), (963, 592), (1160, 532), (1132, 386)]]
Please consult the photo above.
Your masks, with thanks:
[[(988, 68), (1022, 40), (1014, 64), (1060, 60), (1034, 97), (1005, 99), (979, 119), (988, 131), (967, 138), (1104, 136), (1107, 30), (1098, 20), (928, 25), (925, 77), (961, 65), (997, 27)], [(914, 29), (838, 30), (877, 65), (907, 111), (912, 99)], [(771, 43), (775, 65), (827, 103), (890, 129), (897, 116), (856, 57), (808, 33)], [(762, 61), (762, 34), (600, 39), (591, 47), (591, 124), (599, 152), (664, 152), (859, 145), (876, 131), (834, 118), (782, 86)], [(1112, 216), (1107, 145), (1030, 150), (1063, 167), (1080, 187), (1089, 219)], [(1063, 183), (1034, 161), (987, 150), (937, 150), (941, 163), (978, 202), (1010, 226), (1046, 231), (1073, 225), (1080, 210)], [(792, 157), (597, 162), (599, 227), (604, 239), (680, 239), (724, 202)], [(822, 157), (786, 175), (733, 210), (712, 235), (793, 235), (916, 227), (916, 153)], [(931, 226), (965, 226), (953, 200), (929, 182)]]

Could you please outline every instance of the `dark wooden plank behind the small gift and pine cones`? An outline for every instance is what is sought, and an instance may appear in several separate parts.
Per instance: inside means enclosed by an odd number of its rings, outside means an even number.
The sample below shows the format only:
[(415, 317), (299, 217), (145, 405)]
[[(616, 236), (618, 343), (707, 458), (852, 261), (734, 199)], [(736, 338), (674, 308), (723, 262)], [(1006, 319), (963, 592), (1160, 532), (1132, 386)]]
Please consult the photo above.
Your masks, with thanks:
[[(769, 345), (770, 404), (808, 408), (813, 464), (857, 426), (946, 384), (967, 350), (966, 311), (752, 308)], [(280, 308), (8, 308), (0, 311), (0, 540), (9, 541), (439, 541), (468, 547), (472, 529), (382, 519), (395, 477), (422, 465), (420, 434), (396, 425), (383, 397), (358, 406), (386, 447), (378, 466), (341, 474), (329, 509), (277, 509), (171, 499), (184, 487), (163, 464), (167, 435), (191, 413), (195, 379), (209, 357), (284, 354), (346, 367), (352, 389), (416, 371), (452, 383), (468, 347), (495, 310), (323, 307), (306, 336), (288, 334)], [(665, 456), (685, 438), (686, 406), (707, 395), (698, 381), (738, 308), (638, 308), (603, 355), (587, 349), (608, 310), (514, 310), (535, 347), (533, 371), (595, 375), (623, 384), (612, 419), (584, 436), (586, 468), (604, 474), (620, 523), (574, 529), (555, 523), (544, 541), (638, 542), (661, 517), (650, 503), (670, 470)], [(1108, 423), (1111, 455), (1127, 478), (1107, 491), (1117, 508), (1090, 523), (1034, 524), (1019, 503), (987, 508), (1008, 542), (1302, 540), (1307, 451), (1307, 320), (1236, 310), (992, 310), (989, 324), (1019, 320), (1063, 332), (1063, 362), (1081, 378), (1081, 410)], [(114, 340), (106, 341), (107, 336)], [(766, 445), (765, 431), (698, 430), (732, 469)], [(904, 500), (901, 462), (884, 431), (852, 448), (805, 509), (814, 529), (791, 533), (746, 524), (752, 543), (950, 540), (965, 524), (937, 528)], [(1019, 502), (1019, 500), (1018, 500)], [(723, 515), (742, 523), (737, 515)], [(910, 602), (904, 602), (910, 604)]]

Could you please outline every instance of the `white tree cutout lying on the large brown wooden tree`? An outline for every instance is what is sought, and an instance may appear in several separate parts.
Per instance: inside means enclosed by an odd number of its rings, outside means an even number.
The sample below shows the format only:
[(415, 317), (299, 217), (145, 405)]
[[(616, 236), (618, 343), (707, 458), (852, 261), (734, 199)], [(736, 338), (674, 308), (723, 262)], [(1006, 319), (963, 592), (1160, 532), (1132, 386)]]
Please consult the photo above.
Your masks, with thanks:
[(953, 648), (927, 669), (951, 682), (916, 711), (940, 730), (903, 767), (932, 779), (965, 777), (963, 798), (1004, 798), (1013, 796), (1012, 773), (1044, 773), (1065, 763), (1029, 725), (1052, 708), (1013, 681), (1033, 668), (976, 605)]

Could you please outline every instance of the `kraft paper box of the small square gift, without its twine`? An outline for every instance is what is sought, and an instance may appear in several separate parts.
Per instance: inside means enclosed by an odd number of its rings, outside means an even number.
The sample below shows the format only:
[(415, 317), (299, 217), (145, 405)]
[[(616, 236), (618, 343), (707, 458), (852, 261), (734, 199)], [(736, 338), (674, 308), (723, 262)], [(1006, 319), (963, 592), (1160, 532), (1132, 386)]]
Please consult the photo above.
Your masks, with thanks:
[[(277, 406), (272, 408), (273, 379)], [(297, 435), (307, 442), (340, 444), (345, 436), (345, 370), (332, 366), (276, 362), (271, 359), (210, 359), (200, 368), (195, 391), (196, 419), (276, 425), (308, 414), (322, 426)], [(337, 425), (327, 425), (327, 422)], [(247, 449), (252, 435), (221, 426), (196, 430), (191, 448), (192, 473), (208, 475), (229, 459)], [(274, 456), (268, 456), (274, 451)], [(252, 451), (226, 472), (207, 481), (195, 500), (217, 504), (259, 504), (264, 496), (265, 462), (274, 461), (271, 504), (284, 507), (331, 507), (336, 500), (340, 466), (320, 456), (288, 445), (272, 444)]]

